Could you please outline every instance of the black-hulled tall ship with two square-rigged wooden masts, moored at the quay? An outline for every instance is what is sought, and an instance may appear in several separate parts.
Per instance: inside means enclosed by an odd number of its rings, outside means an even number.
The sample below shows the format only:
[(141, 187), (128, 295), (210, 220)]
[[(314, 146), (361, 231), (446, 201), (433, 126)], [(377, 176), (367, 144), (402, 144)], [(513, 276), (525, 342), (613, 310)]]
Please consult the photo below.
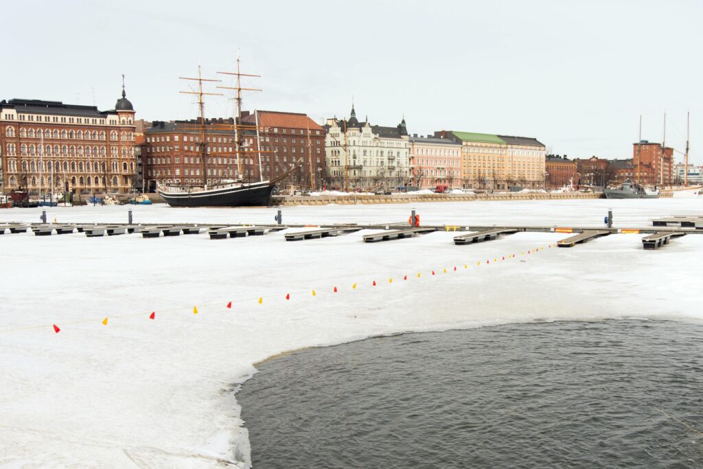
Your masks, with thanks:
[[(198, 106), (200, 108), (200, 118), (193, 124), (200, 131), (200, 142), (198, 149), (202, 160), (202, 186), (157, 186), (157, 192), (164, 198), (166, 203), (172, 207), (252, 207), (271, 205), (271, 195), (276, 188), (276, 183), (285, 179), (290, 173), (297, 169), (294, 165), (292, 169), (275, 179), (264, 180), (262, 171), (262, 157), (259, 148), (259, 122), (254, 125), (242, 123), (242, 91), (262, 91), (254, 88), (242, 88), (241, 77), (259, 77), (260, 75), (249, 75), (240, 72), (239, 58), (237, 58), (236, 72), (218, 72), (224, 75), (234, 75), (236, 77), (236, 87), (217, 86), (221, 89), (233, 89), (236, 94), (236, 118), (234, 124), (229, 126), (234, 133), (234, 144), (236, 153), (236, 179), (214, 179), (210, 177), (207, 169), (207, 122), (205, 120), (204, 95), (223, 96), (221, 93), (205, 93), (202, 91), (202, 82), (220, 82), (217, 79), (202, 78), (200, 67), (198, 67), (197, 78), (181, 77), (181, 79), (194, 80), (198, 82), (198, 91), (181, 91), (184, 94), (195, 94), (198, 96)], [(219, 124), (222, 128), (222, 124)], [(259, 163), (259, 180), (243, 179), (240, 154), (243, 153), (243, 131), (255, 131), (257, 140), (257, 158)], [(251, 154), (251, 153), (247, 153)]]

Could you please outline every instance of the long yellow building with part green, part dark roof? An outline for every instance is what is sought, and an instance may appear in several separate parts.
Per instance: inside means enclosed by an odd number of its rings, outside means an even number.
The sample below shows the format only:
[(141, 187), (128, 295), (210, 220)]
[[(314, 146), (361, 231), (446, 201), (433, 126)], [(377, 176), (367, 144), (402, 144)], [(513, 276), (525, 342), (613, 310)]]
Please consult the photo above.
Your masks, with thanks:
[(546, 148), (537, 139), (460, 131), (437, 131), (434, 135), (461, 143), (465, 188), (544, 188)]

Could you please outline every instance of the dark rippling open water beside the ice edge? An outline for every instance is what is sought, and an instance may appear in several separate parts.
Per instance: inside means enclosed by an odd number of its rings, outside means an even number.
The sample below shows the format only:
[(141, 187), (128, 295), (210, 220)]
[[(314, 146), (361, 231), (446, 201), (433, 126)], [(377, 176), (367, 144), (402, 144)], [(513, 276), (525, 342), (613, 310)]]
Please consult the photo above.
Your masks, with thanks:
[(703, 324), (373, 338), (266, 362), (237, 399), (257, 469), (703, 468)]

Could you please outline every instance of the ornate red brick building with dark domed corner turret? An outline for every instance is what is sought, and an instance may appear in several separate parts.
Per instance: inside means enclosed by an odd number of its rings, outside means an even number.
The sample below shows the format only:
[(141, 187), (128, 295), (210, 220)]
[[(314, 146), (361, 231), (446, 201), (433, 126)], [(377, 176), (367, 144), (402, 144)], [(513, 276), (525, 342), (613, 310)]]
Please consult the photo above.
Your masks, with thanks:
[(58, 101), (0, 101), (0, 191), (129, 191), (136, 172), (134, 129), (124, 86), (115, 109), (106, 111)]

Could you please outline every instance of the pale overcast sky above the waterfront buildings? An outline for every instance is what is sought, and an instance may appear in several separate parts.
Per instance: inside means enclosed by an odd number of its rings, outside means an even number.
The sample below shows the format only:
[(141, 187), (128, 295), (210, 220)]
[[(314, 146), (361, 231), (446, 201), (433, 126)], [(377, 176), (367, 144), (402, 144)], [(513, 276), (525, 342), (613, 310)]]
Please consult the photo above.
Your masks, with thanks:
[[(207, 117), (246, 109), (357, 117), (411, 134), (535, 137), (569, 158), (631, 158), (639, 138), (703, 165), (703, 2), (8, 1), (0, 99), (112, 109), (122, 74), (137, 118), (193, 118), (198, 66)], [(13, 38), (9, 41), (9, 38)], [(676, 160), (683, 161), (681, 153)]]

